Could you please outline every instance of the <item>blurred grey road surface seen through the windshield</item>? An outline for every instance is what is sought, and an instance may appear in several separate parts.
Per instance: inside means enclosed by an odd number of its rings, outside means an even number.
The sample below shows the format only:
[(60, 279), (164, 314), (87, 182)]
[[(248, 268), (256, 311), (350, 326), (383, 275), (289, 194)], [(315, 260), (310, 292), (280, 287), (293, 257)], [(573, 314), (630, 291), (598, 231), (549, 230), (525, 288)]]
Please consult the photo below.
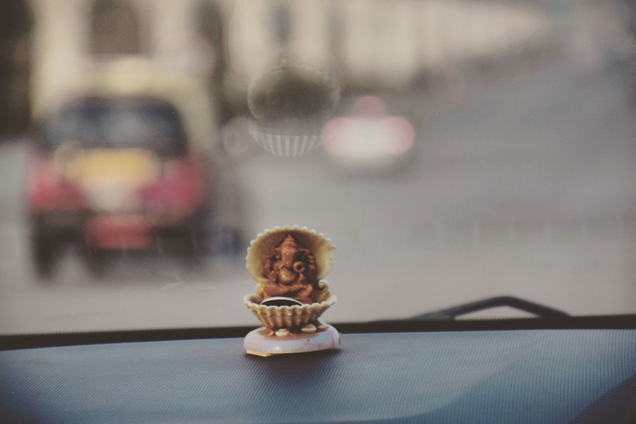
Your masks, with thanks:
[[(546, 57), (473, 81), (452, 104), (420, 92), (387, 97), (417, 141), (383, 173), (349, 174), (324, 152), (279, 159), (254, 145), (223, 165), (215, 221), (244, 243), (284, 224), (331, 237), (330, 322), (502, 294), (572, 314), (636, 312), (635, 110), (628, 66), (599, 54), (584, 66)], [(0, 332), (256, 325), (241, 300), (254, 288), (243, 250), (195, 268), (127, 253), (97, 279), (71, 246), (53, 280), (38, 281), (22, 201), (26, 155), (24, 141), (0, 146)]]

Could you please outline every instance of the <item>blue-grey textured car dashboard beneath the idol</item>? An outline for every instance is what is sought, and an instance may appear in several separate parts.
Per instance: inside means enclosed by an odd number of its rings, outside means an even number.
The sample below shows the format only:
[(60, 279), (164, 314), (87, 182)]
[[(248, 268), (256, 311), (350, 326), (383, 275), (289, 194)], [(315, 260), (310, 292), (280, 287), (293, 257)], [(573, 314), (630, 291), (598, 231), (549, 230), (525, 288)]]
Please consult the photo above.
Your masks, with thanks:
[(346, 334), (259, 358), (242, 339), (0, 352), (2, 422), (617, 422), (636, 330)]

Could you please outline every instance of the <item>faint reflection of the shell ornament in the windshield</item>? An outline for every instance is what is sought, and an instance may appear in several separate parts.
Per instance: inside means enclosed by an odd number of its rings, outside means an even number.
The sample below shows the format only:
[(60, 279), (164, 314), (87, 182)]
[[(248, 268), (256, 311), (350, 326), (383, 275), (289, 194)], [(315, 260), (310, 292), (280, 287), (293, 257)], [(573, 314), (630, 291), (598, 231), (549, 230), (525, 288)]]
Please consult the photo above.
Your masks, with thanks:
[(340, 87), (326, 73), (283, 60), (247, 90), (247, 105), (256, 118), (249, 132), (272, 155), (304, 155), (321, 145), (322, 127), (339, 99)]

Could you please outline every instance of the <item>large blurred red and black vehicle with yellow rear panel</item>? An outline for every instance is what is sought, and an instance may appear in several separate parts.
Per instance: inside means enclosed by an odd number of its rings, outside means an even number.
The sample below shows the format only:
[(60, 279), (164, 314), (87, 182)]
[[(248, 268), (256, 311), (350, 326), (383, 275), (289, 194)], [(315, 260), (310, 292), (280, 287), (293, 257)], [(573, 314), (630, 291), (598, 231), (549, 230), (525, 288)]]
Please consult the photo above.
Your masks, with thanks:
[[(60, 244), (147, 250), (177, 236), (188, 253), (207, 239), (210, 175), (181, 115), (157, 97), (80, 97), (48, 118), (27, 179), (32, 253), (41, 276)], [(174, 239), (174, 237), (172, 237)]]

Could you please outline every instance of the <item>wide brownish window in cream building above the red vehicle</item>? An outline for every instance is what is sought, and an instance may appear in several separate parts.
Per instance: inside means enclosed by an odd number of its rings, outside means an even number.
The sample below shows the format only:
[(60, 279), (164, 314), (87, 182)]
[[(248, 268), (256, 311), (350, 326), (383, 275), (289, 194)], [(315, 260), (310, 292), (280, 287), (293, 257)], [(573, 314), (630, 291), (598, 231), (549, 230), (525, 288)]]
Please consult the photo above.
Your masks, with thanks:
[(139, 17), (125, 0), (95, 0), (91, 10), (90, 51), (94, 54), (141, 53)]

